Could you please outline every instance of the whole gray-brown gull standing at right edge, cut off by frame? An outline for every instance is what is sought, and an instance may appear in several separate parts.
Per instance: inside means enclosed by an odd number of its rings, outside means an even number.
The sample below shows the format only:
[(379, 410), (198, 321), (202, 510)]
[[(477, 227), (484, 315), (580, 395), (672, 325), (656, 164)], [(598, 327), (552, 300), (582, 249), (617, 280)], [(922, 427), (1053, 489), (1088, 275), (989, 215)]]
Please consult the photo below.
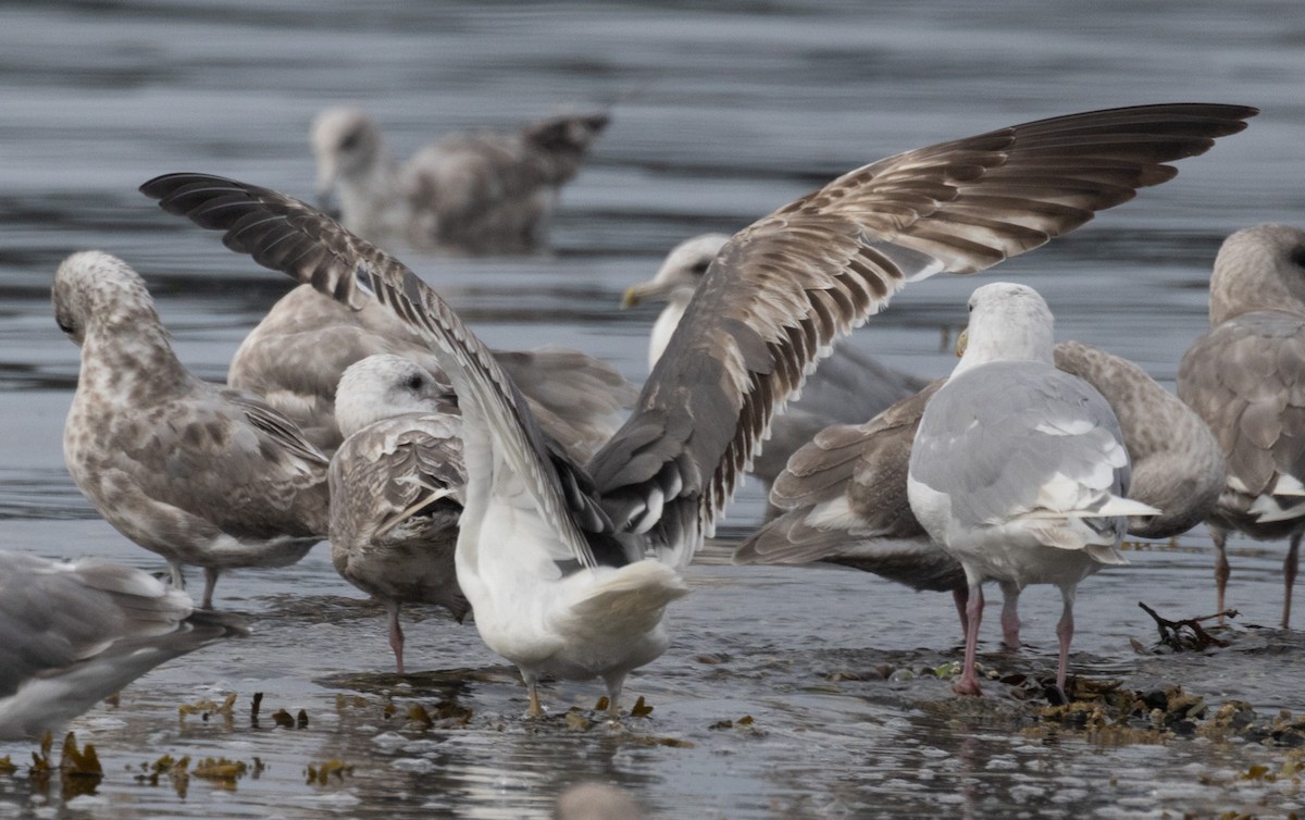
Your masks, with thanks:
[(1305, 232), (1259, 225), (1228, 236), (1210, 277), (1210, 333), (1178, 367), (1178, 396), (1215, 431), (1227, 482), (1207, 521), (1219, 611), (1228, 533), (1289, 538), (1283, 628), (1305, 533)]

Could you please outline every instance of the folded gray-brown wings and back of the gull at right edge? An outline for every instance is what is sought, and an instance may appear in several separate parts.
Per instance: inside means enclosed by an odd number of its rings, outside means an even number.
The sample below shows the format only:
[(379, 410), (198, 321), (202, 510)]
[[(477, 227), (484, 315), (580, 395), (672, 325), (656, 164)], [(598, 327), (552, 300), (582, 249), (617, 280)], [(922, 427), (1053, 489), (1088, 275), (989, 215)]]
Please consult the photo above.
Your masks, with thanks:
[[(1178, 397), (1225, 456), (1227, 482), (1245, 513), (1279, 477), (1305, 481), (1305, 321), (1258, 311), (1212, 329), (1182, 356)], [(1224, 503), (1232, 503), (1225, 496)], [(1293, 499), (1292, 503), (1298, 501)]]

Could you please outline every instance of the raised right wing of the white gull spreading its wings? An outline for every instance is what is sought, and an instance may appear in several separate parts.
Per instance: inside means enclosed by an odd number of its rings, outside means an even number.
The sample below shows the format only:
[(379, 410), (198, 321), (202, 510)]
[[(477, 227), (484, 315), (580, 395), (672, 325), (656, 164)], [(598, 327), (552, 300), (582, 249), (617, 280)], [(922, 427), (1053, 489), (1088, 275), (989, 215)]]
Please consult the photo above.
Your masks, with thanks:
[(1254, 112), (1143, 106), (1015, 125), (865, 166), (740, 231), (590, 462), (613, 522), (688, 560), (835, 337), (908, 281), (983, 270), (1171, 179), (1165, 162)]

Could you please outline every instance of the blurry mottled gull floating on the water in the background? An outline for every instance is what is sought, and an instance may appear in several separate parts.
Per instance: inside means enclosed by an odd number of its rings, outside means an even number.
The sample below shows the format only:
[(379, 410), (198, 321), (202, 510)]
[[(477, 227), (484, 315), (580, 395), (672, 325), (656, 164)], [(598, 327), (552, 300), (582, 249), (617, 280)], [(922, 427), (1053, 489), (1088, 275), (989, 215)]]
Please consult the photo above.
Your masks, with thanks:
[(606, 114), (562, 115), (515, 133), (449, 134), (398, 166), (369, 116), (335, 107), (313, 119), (309, 144), (318, 197), (339, 193), (354, 234), (420, 251), (526, 253), (544, 244), (561, 187), (607, 123)]

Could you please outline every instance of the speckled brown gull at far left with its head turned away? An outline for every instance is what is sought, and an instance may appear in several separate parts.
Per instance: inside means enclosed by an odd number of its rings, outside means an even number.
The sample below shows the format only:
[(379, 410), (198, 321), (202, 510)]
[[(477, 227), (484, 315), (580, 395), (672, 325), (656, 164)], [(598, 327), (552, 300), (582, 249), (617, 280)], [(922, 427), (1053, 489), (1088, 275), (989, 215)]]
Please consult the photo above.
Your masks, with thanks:
[(145, 281), (99, 251), (55, 272), (55, 320), (81, 347), (64, 424), (77, 488), (123, 535), (204, 567), (204, 608), (224, 569), (286, 567), (326, 535), (326, 457), (258, 397), (177, 360)]

